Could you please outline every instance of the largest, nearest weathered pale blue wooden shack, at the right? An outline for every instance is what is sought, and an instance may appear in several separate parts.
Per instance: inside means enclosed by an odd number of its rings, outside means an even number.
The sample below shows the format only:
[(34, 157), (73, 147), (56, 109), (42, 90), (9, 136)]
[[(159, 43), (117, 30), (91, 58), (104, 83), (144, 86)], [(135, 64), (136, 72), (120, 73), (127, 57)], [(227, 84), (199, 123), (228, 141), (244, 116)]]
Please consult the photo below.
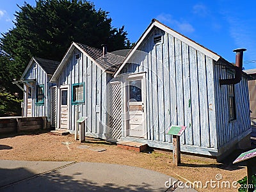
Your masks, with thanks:
[(247, 76), (234, 85), (220, 84), (235, 76), (235, 68), (152, 20), (111, 80), (119, 92), (110, 94), (120, 98), (108, 103), (121, 99), (122, 104), (122, 116), (115, 119), (122, 128), (112, 127), (121, 134), (116, 139), (172, 149), (168, 127), (186, 125), (182, 152), (220, 157), (242, 140), (250, 144)]

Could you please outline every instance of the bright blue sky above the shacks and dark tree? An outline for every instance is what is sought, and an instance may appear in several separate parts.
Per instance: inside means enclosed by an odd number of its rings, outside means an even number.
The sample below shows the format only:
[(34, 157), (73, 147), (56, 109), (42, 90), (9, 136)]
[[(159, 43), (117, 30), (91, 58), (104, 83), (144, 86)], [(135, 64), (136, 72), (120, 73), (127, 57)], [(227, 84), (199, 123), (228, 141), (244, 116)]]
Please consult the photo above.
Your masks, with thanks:
[[(13, 27), (17, 4), (24, 0), (0, 0), (0, 32)], [(27, 0), (35, 5), (35, 0)], [(244, 61), (256, 60), (256, 2), (216, 1), (92, 1), (97, 9), (109, 12), (115, 28), (125, 26), (128, 38), (136, 42), (150, 21), (158, 19), (170, 28), (211, 49), (230, 62), (235, 61), (233, 49), (244, 47)], [(256, 63), (244, 63), (256, 68)]]

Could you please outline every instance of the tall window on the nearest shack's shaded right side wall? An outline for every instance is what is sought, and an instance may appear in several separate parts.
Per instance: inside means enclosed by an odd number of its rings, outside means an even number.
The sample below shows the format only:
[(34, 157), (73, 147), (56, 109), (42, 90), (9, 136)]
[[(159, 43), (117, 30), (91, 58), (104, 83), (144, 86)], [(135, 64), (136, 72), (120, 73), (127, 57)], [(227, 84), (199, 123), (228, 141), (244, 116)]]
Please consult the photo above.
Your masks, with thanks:
[[(227, 76), (228, 79), (230, 78), (234, 78), (234, 73), (228, 71), (227, 72)], [(230, 90), (232, 91), (232, 93), (230, 93)], [(232, 99), (232, 113), (234, 113), (233, 116), (231, 116), (232, 114), (230, 113), (230, 99)], [(237, 115), (236, 115), (236, 92), (235, 92), (235, 85), (234, 84), (227, 84), (227, 102), (228, 102), (228, 121), (232, 122), (234, 120), (237, 119)]]

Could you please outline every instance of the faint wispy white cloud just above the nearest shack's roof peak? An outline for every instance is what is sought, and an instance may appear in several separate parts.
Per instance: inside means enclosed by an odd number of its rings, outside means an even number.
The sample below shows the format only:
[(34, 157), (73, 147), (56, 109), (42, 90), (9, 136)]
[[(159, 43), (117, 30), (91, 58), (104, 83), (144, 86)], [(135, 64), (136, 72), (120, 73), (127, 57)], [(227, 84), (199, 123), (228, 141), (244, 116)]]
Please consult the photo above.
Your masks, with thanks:
[(157, 15), (156, 19), (164, 24), (171, 24), (171, 28), (177, 28), (177, 31), (180, 33), (193, 33), (195, 31), (189, 22), (173, 19), (170, 14), (161, 13)]

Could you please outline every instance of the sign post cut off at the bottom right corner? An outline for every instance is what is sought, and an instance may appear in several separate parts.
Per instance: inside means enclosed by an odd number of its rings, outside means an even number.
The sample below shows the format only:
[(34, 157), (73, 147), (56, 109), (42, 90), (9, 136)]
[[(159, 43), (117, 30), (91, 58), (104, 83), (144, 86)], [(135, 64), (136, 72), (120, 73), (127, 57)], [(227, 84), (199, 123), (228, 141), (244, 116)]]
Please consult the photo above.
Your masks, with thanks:
[(254, 188), (252, 188), (251, 186), (253, 186), (252, 175), (256, 174), (256, 148), (241, 154), (239, 157), (237, 157), (233, 164), (242, 161), (245, 161), (247, 166), (247, 191), (254, 191)]

